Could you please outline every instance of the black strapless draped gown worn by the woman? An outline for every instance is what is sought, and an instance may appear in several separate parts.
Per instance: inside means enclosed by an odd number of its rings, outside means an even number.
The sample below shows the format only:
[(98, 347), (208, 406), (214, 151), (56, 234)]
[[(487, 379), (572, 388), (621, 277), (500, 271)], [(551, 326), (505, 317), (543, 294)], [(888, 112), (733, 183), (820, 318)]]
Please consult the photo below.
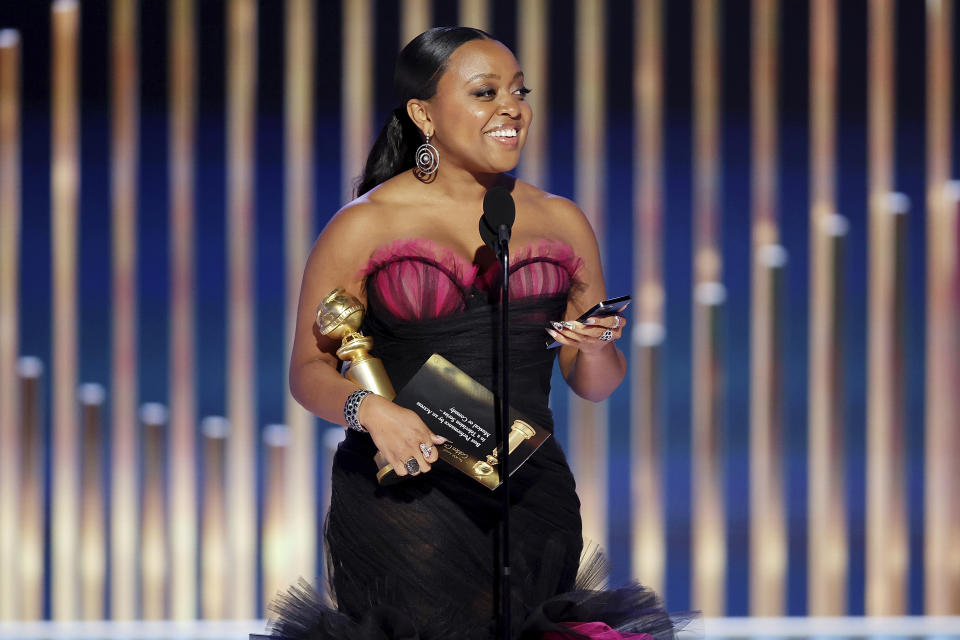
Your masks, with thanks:
[[(363, 331), (398, 390), (434, 353), (497, 388), (498, 308), (483, 290), (453, 277), (462, 308), (420, 319), (394, 315), (396, 300), (388, 296), (396, 292), (367, 280)], [(423, 287), (425, 281), (405, 285)], [(511, 303), (510, 404), (551, 431), (556, 350), (544, 348), (544, 327), (563, 316), (569, 286), (561, 289)], [(380, 487), (374, 453), (368, 435), (348, 431), (334, 458), (325, 540), (335, 607), (301, 582), (274, 602), (270, 637), (493, 638), (500, 491), (444, 463)], [(675, 625), (653, 592), (639, 585), (602, 590), (602, 557), (586, 554), (581, 562), (580, 502), (554, 438), (511, 476), (510, 503), (514, 638), (570, 634), (559, 623), (597, 620), (625, 632), (673, 637)]]

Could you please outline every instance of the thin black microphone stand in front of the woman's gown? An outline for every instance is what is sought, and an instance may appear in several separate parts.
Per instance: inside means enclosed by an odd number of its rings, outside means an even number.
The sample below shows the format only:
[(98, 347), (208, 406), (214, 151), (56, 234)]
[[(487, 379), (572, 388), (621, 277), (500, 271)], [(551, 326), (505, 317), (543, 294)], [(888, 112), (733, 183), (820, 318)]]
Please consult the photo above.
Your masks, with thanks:
[(507, 372), (510, 370), (510, 228), (501, 224), (497, 229), (497, 257), (500, 258), (500, 270), (503, 278), (500, 287), (500, 358), (497, 366), (497, 380), (500, 396), (500, 420), (497, 421), (497, 438), (500, 450), (500, 633), (501, 640), (510, 640), (510, 447), (507, 435), (510, 425), (510, 386)]

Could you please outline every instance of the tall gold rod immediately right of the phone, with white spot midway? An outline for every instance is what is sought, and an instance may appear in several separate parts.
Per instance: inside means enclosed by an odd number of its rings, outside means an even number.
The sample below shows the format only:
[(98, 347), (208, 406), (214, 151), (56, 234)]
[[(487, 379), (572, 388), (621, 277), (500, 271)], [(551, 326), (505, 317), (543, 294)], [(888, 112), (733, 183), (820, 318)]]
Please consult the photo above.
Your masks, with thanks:
[(666, 523), (660, 464), (660, 355), (664, 331), (663, 2), (634, 2), (634, 299), (631, 406), (631, 558), (633, 577), (665, 586)]

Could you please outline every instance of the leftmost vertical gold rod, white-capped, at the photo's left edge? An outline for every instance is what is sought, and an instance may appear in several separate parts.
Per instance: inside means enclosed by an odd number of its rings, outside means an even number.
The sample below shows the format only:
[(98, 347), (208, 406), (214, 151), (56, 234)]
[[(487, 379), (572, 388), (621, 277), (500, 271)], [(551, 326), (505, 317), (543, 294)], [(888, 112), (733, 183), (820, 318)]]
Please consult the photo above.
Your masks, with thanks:
[(20, 34), (0, 31), (0, 620), (20, 616)]

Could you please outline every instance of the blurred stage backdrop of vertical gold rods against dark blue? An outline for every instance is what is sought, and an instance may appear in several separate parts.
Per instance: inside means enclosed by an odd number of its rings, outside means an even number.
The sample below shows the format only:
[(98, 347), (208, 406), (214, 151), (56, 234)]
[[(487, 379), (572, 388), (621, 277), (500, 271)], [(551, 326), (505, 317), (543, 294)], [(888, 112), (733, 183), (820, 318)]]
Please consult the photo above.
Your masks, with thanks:
[(956, 14), (0, 1), (0, 620), (253, 618), (321, 575), (342, 428), (290, 399), (291, 307), (396, 53), (452, 24), (517, 53), (519, 174), (634, 295), (628, 379), (552, 398), (611, 584), (960, 615)]

